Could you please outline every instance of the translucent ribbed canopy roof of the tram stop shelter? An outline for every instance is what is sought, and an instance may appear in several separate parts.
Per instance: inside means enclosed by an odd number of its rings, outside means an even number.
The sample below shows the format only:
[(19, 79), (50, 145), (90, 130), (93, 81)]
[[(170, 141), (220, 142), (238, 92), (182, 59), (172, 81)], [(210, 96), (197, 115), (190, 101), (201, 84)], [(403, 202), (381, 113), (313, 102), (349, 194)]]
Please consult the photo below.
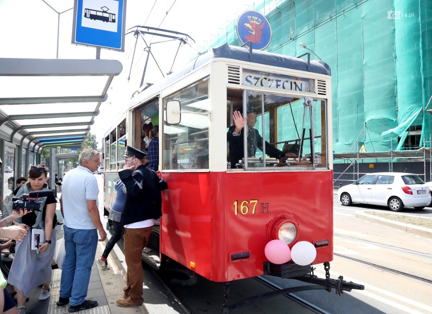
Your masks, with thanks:
[(0, 137), (80, 147), (121, 71), (117, 60), (0, 58)]

